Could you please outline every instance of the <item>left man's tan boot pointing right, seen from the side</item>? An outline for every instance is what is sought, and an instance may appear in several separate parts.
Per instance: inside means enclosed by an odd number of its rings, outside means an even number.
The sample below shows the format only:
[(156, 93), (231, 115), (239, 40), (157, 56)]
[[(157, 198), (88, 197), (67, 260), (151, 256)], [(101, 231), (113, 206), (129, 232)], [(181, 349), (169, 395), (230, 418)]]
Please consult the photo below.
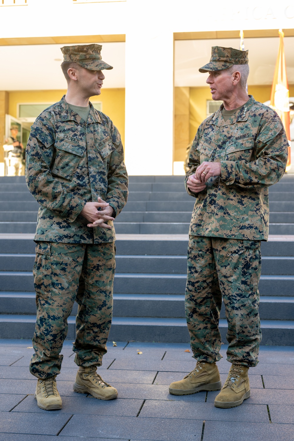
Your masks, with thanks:
[(96, 372), (97, 366), (78, 368), (74, 382), (74, 392), (90, 393), (99, 400), (112, 400), (117, 398), (117, 390), (105, 383)]

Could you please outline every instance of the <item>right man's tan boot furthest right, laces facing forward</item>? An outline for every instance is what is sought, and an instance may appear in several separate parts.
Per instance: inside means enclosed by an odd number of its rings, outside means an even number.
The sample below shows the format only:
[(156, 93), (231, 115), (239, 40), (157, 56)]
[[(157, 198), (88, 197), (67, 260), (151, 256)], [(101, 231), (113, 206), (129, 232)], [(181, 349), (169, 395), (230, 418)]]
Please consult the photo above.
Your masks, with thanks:
[(227, 409), (240, 406), (244, 400), (249, 398), (248, 369), (247, 366), (232, 364), (227, 380), (214, 401), (216, 407)]

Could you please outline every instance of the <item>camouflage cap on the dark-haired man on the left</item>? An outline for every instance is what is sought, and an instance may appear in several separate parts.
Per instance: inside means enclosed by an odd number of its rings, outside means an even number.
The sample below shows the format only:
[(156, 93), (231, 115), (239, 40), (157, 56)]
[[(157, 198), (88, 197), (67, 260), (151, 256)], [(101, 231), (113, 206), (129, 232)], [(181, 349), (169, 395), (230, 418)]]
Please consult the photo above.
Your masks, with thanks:
[(63, 46), (63, 48), (60, 49), (63, 53), (63, 61), (75, 61), (90, 71), (113, 69), (112, 66), (102, 61), (100, 53), (102, 49), (101, 45)]

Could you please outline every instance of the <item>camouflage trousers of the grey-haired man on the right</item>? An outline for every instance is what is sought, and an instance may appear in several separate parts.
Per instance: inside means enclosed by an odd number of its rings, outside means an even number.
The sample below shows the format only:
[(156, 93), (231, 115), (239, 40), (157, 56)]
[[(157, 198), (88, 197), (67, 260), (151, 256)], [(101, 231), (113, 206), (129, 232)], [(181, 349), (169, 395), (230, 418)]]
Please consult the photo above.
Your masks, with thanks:
[(260, 275), (260, 241), (190, 235), (185, 310), (195, 359), (213, 363), (222, 358), (218, 325), (223, 298), (227, 360), (257, 365)]

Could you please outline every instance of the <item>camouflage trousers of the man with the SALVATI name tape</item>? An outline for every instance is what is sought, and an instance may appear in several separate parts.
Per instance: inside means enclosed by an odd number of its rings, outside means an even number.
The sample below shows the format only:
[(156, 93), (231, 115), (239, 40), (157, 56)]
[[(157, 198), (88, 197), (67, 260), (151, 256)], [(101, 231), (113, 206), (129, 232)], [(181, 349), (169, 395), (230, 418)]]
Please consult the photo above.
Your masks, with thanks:
[(38, 378), (60, 373), (67, 318), (78, 303), (74, 362), (101, 366), (112, 321), (114, 242), (37, 242), (33, 267), (37, 322), (30, 372)]

